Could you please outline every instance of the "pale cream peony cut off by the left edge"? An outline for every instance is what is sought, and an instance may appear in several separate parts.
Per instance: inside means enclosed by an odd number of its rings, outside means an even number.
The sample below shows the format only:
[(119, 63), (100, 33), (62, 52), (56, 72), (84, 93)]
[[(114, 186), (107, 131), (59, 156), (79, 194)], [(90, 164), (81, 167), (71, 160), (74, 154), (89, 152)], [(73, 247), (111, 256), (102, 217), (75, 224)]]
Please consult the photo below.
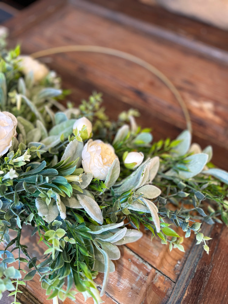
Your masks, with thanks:
[(12, 146), (16, 136), (17, 119), (9, 112), (0, 112), (0, 157)]

